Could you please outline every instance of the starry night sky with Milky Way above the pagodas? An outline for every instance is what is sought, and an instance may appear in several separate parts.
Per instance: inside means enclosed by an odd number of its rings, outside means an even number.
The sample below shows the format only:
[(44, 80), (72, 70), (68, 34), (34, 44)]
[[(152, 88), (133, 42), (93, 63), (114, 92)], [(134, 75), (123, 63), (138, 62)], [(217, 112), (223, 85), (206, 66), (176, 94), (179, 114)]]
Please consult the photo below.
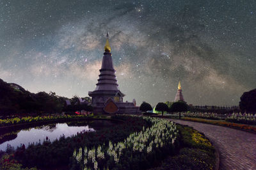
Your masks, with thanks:
[(256, 88), (255, 0), (0, 0), (0, 79), (88, 96), (106, 32), (125, 100), (238, 105)]

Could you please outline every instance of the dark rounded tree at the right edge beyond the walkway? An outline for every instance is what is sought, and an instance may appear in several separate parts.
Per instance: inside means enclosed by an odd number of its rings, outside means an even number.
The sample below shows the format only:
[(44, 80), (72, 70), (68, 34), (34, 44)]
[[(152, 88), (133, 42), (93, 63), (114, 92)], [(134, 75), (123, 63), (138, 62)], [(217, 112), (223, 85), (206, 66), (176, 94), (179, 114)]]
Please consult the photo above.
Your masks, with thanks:
[(239, 107), (242, 112), (256, 113), (256, 89), (244, 92), (240, 100)]

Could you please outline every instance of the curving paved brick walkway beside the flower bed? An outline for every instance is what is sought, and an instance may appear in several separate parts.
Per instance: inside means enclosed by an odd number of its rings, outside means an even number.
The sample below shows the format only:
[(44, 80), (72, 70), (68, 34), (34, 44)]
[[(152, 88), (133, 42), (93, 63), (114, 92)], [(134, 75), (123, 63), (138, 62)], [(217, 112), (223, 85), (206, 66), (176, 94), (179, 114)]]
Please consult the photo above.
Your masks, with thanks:
[(205, 123), (172, 121), (204, 133), (220, 152), (220, 169), (256, 169), (256, 134)]

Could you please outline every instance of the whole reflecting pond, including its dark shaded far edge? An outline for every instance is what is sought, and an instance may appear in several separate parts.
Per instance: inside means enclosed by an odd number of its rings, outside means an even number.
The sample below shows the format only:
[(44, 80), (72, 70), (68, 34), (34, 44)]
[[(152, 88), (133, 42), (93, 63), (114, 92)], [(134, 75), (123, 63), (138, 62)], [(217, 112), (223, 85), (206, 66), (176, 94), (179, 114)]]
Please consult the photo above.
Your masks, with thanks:
[(67, 123), (52, 123), (33, 128), (23, 128), (0, 135), (0, 150), (5, 151), (8, 144), (14, 148), (29, 143), (43, 143), (48, 137), (51, 141), (59, 139), (61, 135), (70, 137), (76, 135), (77, 132), (87, 131), (93, 132), (99, 128), (113, 126), (116, 123), (108, 120), (93, 121), (71, 121)]

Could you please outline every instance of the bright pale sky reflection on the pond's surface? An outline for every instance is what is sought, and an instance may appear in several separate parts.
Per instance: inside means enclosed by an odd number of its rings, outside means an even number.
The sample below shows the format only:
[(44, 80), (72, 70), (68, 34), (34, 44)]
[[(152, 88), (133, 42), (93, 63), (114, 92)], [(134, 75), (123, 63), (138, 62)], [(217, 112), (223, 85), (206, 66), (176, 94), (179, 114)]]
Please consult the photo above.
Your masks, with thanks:
[[(9, 133), (9, 135), (1, 135), (0, 138), (5, 139), (1, 140), (3, 143), (0, 144), (0, 150), (6, 150), (7, 144), (17, 148), (20, 144), (25, 144), (27, 147), (29, 143), (41, 143), (44, 141), (46, 137), (51, 141), (55, 139), (59, 139), (61, 135), (65, 135), (65, 137), (69, 137), (71, 135), (77, 134), (77, 132), (81, 131), (94, 131), (93, 128), (89, 128), (88, 123), (85, 125), (84, 123), (79, 126), (72, 126), (70, 123), (56, 123), (51, 125), (44, 125), (35, 128), (29, 128), (27, 130), (20, 130)], [(15, 138), (15, 139), (13, 139)]]

